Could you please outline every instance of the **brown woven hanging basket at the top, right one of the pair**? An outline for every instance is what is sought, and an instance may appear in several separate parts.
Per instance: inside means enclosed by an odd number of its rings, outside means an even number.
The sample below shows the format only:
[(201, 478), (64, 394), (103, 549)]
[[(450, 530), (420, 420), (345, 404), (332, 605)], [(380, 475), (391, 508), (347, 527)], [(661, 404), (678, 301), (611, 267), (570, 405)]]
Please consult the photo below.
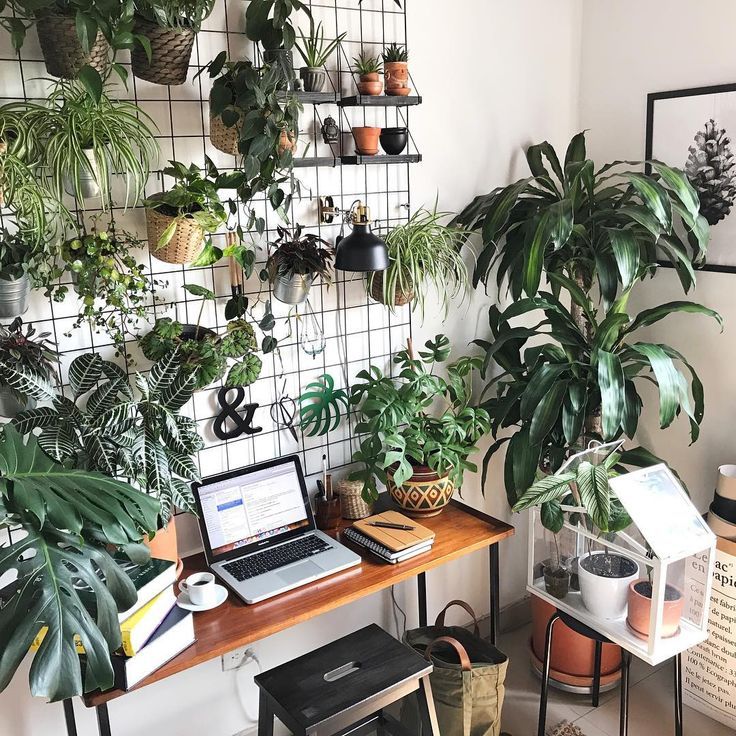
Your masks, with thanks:
[(193, 30), (172, 31), (144, 18), (136, 18), (133, 32), (151, 42), (150, 63), (140, 44), (130, 52), (131, 68), (136, 77), (153, 84), (184, 84), (187, 81), (194, 46)]

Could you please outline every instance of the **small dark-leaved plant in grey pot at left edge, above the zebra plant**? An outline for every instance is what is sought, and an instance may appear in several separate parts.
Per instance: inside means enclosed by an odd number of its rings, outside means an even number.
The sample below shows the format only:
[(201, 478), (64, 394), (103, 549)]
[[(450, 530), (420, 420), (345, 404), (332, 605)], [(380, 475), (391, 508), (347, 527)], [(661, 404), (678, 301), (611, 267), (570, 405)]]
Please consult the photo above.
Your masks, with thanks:
[(37, 335), (32, 325), (24, 332), (20, 317), (7, 327), (0, 325), (0, 416), (14, 417), (37, 400), (55, 396), (58, 356), (50, 335)]

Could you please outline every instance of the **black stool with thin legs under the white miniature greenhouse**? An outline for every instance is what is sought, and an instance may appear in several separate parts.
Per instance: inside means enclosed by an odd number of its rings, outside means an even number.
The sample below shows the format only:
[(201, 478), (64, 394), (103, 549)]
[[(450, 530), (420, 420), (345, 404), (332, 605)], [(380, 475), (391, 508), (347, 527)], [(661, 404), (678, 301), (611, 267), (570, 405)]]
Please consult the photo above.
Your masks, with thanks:
[[(608, 637), (581, 623), (559, 609), (547, 624), (547, 636), (544, 641), (544, 662), (542, 664), (542, 694), (539, 700), (539, 725), (537, 736), (544, 736), (547, 725), (547, 697), (549, 695), (549, 669), (552, 649), (552, 633), (558, 621), (562, 621), (577, 634), (595, 642), (595, 664), (593, 671), (592, 703), (598, 707), (601, 692), (601, 652), (604, 644), (613, 644)], [(619, 736), (628, 736), (629, 732), (629, 670), (631, 669), (631, 653), (621, 649), (621, 708), (619, 716)], [(675, 658), (675, 736), (682, 736), (682, 662), (680, 655)]]

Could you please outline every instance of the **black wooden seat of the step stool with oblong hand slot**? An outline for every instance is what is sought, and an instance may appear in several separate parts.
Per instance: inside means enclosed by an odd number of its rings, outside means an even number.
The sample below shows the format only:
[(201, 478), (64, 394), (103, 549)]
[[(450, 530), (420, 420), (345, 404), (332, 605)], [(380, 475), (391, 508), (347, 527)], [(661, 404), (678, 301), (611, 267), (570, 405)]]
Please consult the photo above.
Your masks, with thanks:
[(371, 624), (255, 681), (271, 710), (292, 730), (298, 726), (305, 733), (322, 733), (322, 726), (331, 732), (331, 722), (358, 706), (378, 711), (387, 697), (395, 702), (416, 691), (431, 671), (424, 657)]

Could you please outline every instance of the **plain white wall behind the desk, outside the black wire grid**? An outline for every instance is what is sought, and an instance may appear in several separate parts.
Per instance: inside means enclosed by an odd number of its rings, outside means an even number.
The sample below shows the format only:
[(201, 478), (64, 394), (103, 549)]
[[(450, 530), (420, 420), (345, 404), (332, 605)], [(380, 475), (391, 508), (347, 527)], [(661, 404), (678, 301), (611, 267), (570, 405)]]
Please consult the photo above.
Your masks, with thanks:
[[(410, 0), (412, 73), (425, 100), (412, 115), (424, 154), (424, 163), (413, 172), (414, 205), (431, 206), (439, 191), (441, 209), (460, 209), (475, 194), (522, 176), (522, 149), (530, 143), (548, 138), (566, 144), (577, 129), (580, 13), (580, 0)], [(461, 351), (486, 331), (485, 315), (496, 296), (476, 295), (444, 324), (440, 316), (428, 315), (419, 333), (444, 331)], [(499, 463), (485, 499), (477, 478), (466, 478), (464, 492), (468, 502), (508, 516)], [(502, 547), (504, 604), (523, 595), (525, 549), (523, 530)], [(487, 570), (487, 556), (476, 553), (431, 573), (430, 615), (456, 596), (487, 613)], [(414, 625), (413, 583), (400, 586), (398, 598)], [(374, 595), (270, 637), (256, 651), (264, 667), (271, 667), (372, 621), (394, 630), (388, 595)], [(249, 726), (246, 710), (256, 709), (249, 672), (223, 674), (214, 661), (131, 693), (110, 706), (113, 733), (240, 732)], [(80, 736), (96, 733), (93, 713), (79, 704), (77, 720)], [(30, 697), (22, 669), (0, 694), (0, 723), (2, 736), (51, 736), (62, 733), (62, 710)]]

